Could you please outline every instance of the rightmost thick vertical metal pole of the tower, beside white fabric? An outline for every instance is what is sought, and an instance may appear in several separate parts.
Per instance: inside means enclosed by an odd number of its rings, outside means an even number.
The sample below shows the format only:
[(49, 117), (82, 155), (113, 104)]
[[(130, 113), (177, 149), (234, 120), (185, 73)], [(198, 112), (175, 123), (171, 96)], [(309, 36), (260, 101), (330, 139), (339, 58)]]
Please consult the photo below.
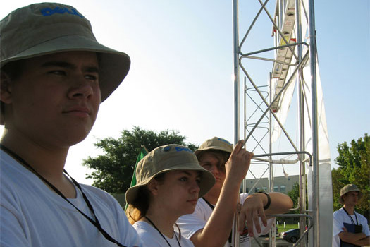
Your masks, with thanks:
[(314, 0), (309, 0), (309, 57), (311, 61), (311, 90), (312, 90), (312, 158), (313, 158), (313, 220), (314, 220), (314, 246), (320, 246), (319, 226), (319, 138), (317, 136), (317, 91), (316, 91), (316, 30)]

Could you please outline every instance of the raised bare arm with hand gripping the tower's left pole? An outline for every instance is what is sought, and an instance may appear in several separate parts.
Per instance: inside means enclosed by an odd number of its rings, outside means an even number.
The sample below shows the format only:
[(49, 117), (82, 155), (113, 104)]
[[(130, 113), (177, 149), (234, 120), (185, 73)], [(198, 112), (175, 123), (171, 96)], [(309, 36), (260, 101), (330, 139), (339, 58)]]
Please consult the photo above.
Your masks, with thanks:
[(242, 144), (243, 141), (239, 141), (235, 145), (230, 159), (226, 162), (226, 179), (211, 217), (204, 229), (200, 229), (190, 238), (195, 247), (223, 247), (228, 240), (233, 227), (240, 184), (247, 174), (253, 156), (252, 152), (242, 148)]

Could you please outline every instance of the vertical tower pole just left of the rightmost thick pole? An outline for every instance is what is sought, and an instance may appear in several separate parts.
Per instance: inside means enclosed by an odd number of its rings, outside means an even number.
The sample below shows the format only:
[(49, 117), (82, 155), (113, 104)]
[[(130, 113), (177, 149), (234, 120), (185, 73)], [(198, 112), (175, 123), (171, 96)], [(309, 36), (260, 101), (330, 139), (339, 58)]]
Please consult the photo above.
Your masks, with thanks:
[[(302, 23), (301, 23), (301, 11), (300, 11), (300, 1), (295, 0), (295, 25), (297, 30), (297, 42), (302, 42)], [(299, 62), (302, 61), (302, 45), (297, 46), (297, 55)], [(300, 116), (300, 151), (304, 151), (304, 95), (303, 95), (303, 85), (301, 81), (302, 76), (302, 67), (299, 68), (297, 73), (297, 82), (298, 82), (298, 100), (299, 100), (299, 116)], [(300, 155), (300, 214), (306, 212), (306, 176), (305, 176), (305, 167), (304, 167), (304, 155)], [(306, 226), (306, 218), (300, 217), (300, 236), (302, 236)], [(301, 246), (306, 246), (306, 239), (301, 241)]]

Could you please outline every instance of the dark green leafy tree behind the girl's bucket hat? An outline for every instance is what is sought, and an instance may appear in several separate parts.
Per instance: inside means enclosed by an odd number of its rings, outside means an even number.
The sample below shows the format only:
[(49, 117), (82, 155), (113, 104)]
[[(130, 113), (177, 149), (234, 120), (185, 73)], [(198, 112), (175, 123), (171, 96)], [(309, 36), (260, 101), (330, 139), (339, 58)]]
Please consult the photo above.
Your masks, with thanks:
[(101, 139), (94, 145), (103, 151), (103, 155), (89, 156), (83, 161), (83, 165), (94, 169), (87, 178), (94, 179), (93, 186), (109, 193), (125, 193), (130, 187), (137, 155), (142, 145), (149, 152), (166, 144), (186, 145), (191, 150), (197, 149), (194, 144), (185, 144), (185, 139), (178, 131), (165, 130), (155, 133), (137, 126), (134, 126), (132, 131), (124, 130), (118, 139)]

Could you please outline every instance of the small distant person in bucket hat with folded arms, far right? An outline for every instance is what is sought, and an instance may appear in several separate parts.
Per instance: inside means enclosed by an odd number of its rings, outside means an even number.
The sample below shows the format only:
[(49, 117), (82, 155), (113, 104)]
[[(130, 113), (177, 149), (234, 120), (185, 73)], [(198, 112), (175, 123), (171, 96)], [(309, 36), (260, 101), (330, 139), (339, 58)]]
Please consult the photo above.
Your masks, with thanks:
[(340, 189), (340, 210), (333, 212), (333, 247), (370, 246), (367, 219), (354, 211), (362, 198), (362, 191), (354, 184)]

